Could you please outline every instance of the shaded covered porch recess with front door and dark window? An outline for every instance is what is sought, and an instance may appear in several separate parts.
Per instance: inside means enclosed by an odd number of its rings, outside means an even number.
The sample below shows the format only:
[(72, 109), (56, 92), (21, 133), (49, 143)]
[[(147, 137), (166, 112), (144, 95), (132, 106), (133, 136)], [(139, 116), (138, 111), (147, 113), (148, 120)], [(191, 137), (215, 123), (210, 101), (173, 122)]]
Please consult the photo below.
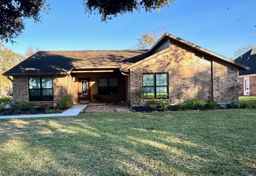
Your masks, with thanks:
[(119, 67), (75, 67), (72, 77), (75, 104), (126, 102), (128, 77)]

